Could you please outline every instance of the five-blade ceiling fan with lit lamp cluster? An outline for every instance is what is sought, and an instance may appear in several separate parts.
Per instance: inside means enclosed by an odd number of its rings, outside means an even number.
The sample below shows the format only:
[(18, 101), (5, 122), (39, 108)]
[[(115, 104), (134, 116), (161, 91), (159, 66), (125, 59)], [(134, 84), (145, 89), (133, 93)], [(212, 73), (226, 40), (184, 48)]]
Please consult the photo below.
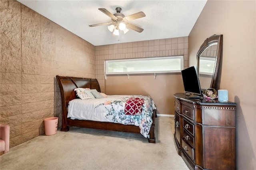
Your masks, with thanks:
[(126, 32), (129, 31), (127, 28), (129, 28), (131, 30), (134, 30), (136, 32), (142, 32), (144, 30), (143, 28), (140, 28), (138, 26), (135, 26), (133, 24), (128, 23), (128, 21), (130, 21), (130, 20), (135, 20), (135, 19), (138, 19), (138, 18), (145, 17), (146, 15), (142, 11), (137, 12), (137, 13), (132, 14), (132, 15), (129, 15), (129, 16), (124, 16), (124, 14), (120, 13), (121, 10), (122, 10), (122, 8), (120, 8), (120, 7), (116, 8), (116, 14), (111, 14), (105, 8), (99, 8), (98, 10), (100, 10), (101, 12), (103, 12), (104, 14), (109, 16), (111, 18), (112, 22), (104, 22), (104, 23), (100, 23), (100, 24), (93, 24), (93, 25), (90, 25), (89, 27), (109, 25), (108, 30), (110, 32), (113, 32), (114, 35), (119, 35), (119, 30), (124, 31), (124, 34), (125, 34)]

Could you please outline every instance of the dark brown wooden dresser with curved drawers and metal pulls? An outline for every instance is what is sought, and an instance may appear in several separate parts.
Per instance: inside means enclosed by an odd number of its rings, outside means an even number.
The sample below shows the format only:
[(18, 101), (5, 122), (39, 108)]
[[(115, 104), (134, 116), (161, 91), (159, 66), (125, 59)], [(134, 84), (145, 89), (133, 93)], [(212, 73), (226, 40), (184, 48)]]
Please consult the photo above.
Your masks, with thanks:
[(236, 103), (175, 97), (174, 142), (190, 169), (236, 169)]

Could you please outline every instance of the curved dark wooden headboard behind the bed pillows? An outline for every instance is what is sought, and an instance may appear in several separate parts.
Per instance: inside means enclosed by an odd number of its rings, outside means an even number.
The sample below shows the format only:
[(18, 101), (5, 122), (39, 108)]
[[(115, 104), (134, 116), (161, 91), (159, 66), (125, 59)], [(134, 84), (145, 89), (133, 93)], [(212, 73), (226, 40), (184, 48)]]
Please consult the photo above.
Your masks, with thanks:
[[(61, 101), (62, 101), (62, 112), (63, 107), (68, 106), (68, 102), (76, 99), (76, 93), (74, 89), (81, 88), (90, 88), (96, 89), (100, 92), (100, 85), (97, 79), (87, 79), (79, 77), (61, 77), (56, 75), (60, 87)], [(66, 110), (66, 109), (65, 109)]]

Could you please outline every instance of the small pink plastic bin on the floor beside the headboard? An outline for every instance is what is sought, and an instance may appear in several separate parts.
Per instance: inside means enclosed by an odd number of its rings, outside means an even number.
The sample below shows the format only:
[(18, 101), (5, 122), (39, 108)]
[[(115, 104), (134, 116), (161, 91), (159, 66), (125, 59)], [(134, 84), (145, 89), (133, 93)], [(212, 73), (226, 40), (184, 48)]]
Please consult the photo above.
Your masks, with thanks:
[(53, 135), (58, 130), (58, 117), (48, 117), (44, 119), (45, 135)]

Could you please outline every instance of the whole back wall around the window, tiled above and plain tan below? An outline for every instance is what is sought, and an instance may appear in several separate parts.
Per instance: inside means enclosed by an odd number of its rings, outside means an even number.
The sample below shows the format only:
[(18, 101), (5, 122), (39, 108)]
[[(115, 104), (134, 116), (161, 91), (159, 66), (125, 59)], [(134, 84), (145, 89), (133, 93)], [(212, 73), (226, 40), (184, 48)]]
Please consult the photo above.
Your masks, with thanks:
[[(184, 55), (188, 65), (188, 37), (96, 46), (96, 78), (106, 94), (150, 95), (157, 113), (174, 115), (174, 93), (183, 92), (181, 73), (104, 77), (104, 60)], [(106, 88), (106, 89), (104, 89)]]

